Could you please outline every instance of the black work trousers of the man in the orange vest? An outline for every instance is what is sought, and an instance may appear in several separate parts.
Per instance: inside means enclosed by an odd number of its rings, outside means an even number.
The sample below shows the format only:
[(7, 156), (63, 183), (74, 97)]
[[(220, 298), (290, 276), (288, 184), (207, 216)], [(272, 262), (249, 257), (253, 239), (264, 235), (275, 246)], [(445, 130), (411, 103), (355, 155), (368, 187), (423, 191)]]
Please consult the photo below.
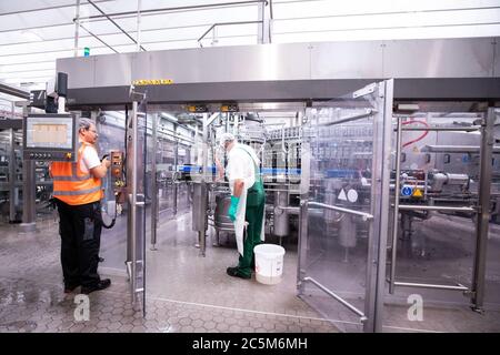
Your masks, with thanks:
[(66, 286), (94, 286), (99, 281), (102, 217), (100, 202), (69, 205), (56, 199)]

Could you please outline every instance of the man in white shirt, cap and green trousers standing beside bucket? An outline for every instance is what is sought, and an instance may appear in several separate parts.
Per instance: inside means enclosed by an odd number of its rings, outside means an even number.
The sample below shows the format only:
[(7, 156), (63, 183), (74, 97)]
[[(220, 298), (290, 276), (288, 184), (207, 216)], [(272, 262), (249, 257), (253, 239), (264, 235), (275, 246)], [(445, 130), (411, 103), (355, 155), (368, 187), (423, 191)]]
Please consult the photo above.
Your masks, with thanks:
[[(227, 175), (231, 189), (228, 215), (234, 223), (234, 234), (240, 254), (238, 266), (228, 267), (230, 276), (250, 278), (254, 265), (253, 247), (263, 241), (266, 193), (260, 178), (256, 152), (239, 144), (231, 133), (223, 133), (220, 145), (228, 153)], [(243, 241), (244, 225), (247, 236)]]

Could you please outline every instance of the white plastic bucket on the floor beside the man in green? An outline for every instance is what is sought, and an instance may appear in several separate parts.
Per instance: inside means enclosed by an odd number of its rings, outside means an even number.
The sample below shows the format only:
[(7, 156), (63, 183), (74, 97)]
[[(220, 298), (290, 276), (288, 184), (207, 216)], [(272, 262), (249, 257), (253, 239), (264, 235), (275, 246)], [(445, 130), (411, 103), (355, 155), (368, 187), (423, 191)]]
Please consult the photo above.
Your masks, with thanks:
[(281, 282), (284, 248), (276, 244), (260, 244), (253, 248), (256, 254), (256, 278), (267, 285)]

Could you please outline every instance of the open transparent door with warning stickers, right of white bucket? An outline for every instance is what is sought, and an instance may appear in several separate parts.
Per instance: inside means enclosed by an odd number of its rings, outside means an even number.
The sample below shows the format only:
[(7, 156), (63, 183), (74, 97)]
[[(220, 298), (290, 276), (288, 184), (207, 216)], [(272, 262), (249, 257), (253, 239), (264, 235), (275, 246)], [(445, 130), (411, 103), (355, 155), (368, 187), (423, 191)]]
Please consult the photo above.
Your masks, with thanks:
[(368, 321), (373, 329), (374, 266), (367, 261), (377, 260), (380, 245), (380, 222), (373, 222), (380, 221), (384, 171), (380, 88), (307, 111), (299, 294), (347, 332), (367, 331)]

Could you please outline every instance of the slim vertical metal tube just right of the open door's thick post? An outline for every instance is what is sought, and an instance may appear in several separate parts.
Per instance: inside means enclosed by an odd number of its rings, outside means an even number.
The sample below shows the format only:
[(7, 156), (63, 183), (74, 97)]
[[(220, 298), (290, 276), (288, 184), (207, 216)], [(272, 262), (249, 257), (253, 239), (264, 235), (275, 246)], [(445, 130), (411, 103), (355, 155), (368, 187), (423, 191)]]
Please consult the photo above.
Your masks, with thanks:
[(396, 252), (398, 243), (398, 229), (399, 229), (399, 190), (401, 185), (401, 135), (402, 124), (399, 118), (397, 118), (397, 135), (396, 135), (396, 189), (394, 189), (394, 217), (392, 221), (392, 250), (391, 250), (391, 270), (389, 278), (389, 293), (394, 293), (394, 277), (396, 277)]

